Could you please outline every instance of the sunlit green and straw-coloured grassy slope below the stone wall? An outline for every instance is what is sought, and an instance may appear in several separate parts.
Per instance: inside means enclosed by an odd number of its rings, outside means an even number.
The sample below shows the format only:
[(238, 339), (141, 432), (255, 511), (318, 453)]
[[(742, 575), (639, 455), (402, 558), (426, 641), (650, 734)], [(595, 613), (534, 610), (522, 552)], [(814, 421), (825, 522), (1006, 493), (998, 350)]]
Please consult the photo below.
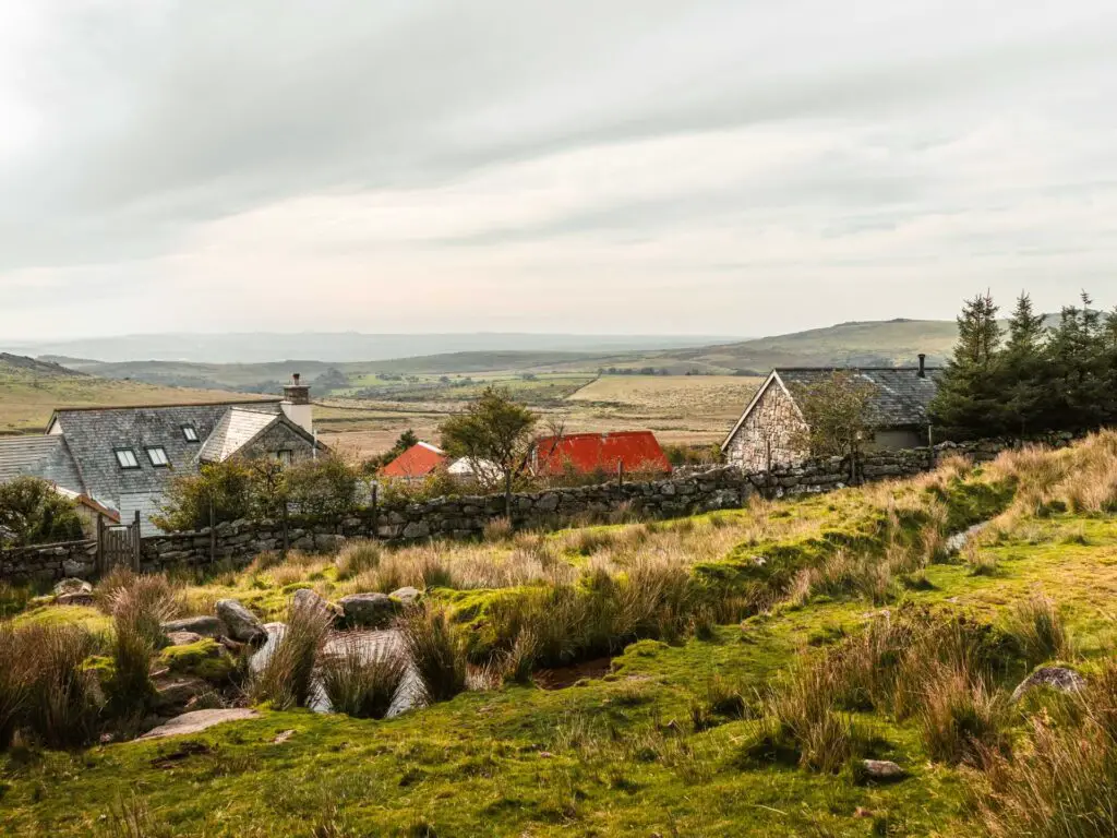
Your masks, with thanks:
[[(1115, 474), (1106, 435), (677, 522), (261, 560), (181, 607), (235, 596), (274, 619), (300, 587), (416, 584), (490, 677), (391, 721), (262, 707), (163, 742), (22, 747), (0, 756), (0, 831), (1114, 835)], [(58, 619), (86, 611), (104, 620)], [(534, 679), (491, 677), (525, 655)], [(1054, 661), (1081, 693), (1010, 701)]]

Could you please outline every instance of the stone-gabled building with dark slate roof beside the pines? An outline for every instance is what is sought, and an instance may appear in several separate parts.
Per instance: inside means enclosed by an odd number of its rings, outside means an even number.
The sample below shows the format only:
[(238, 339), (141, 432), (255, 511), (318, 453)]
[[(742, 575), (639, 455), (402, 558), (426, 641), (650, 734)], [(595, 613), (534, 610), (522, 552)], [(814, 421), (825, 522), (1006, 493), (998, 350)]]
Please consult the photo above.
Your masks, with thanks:
[[(772, 370), (748, 402), (741, 419), (722, 444), (729, 465), (748, 473), (794, 466), (809, 456), (802, 447), (806, 428), (796, 394), (830, 378), (834, 368), (783, 368)], [(852, 375), (875, 387), (869, 406), (872, 439), (866, 450), (917, 448), (930, 440), (927, 409), (938, 390), (941, 368), (847, 368)]]

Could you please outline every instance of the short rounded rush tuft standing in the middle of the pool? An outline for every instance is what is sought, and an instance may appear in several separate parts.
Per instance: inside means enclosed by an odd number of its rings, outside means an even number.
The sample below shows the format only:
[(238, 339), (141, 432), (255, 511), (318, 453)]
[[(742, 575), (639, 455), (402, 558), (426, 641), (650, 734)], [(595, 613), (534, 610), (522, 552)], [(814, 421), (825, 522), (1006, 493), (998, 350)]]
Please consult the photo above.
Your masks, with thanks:
[(372, 646), (350, 636), (341, 653), (322, 657), (322, 689), (335, 713), (383, 718), (408, 674), (407, 658), (390, 642)]

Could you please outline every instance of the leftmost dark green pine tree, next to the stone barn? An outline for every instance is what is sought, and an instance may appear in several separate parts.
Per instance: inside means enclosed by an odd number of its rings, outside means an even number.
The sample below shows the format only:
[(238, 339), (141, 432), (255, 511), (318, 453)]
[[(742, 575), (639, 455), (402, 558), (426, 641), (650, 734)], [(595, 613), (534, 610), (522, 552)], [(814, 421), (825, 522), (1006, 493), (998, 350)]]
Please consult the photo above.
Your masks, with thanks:
[(967, 299), (958, 316), (958, 343), (930, 406), (949, 436), (995, 436), (1013, 430), (1006, 406), (997, 306), (987, 292)]

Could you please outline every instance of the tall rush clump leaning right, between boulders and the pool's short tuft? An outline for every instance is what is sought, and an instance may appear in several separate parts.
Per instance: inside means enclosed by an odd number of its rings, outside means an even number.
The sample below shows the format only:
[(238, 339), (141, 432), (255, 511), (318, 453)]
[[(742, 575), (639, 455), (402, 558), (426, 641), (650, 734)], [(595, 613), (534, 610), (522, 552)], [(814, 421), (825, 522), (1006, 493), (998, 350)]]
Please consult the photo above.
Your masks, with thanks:
[(252, 701), (269, 702), (275, 710), (307, 705), (315, 665), (333, 619), (331, 611), (313, 603), (292, 602), (283, 637), (252, 680)]

